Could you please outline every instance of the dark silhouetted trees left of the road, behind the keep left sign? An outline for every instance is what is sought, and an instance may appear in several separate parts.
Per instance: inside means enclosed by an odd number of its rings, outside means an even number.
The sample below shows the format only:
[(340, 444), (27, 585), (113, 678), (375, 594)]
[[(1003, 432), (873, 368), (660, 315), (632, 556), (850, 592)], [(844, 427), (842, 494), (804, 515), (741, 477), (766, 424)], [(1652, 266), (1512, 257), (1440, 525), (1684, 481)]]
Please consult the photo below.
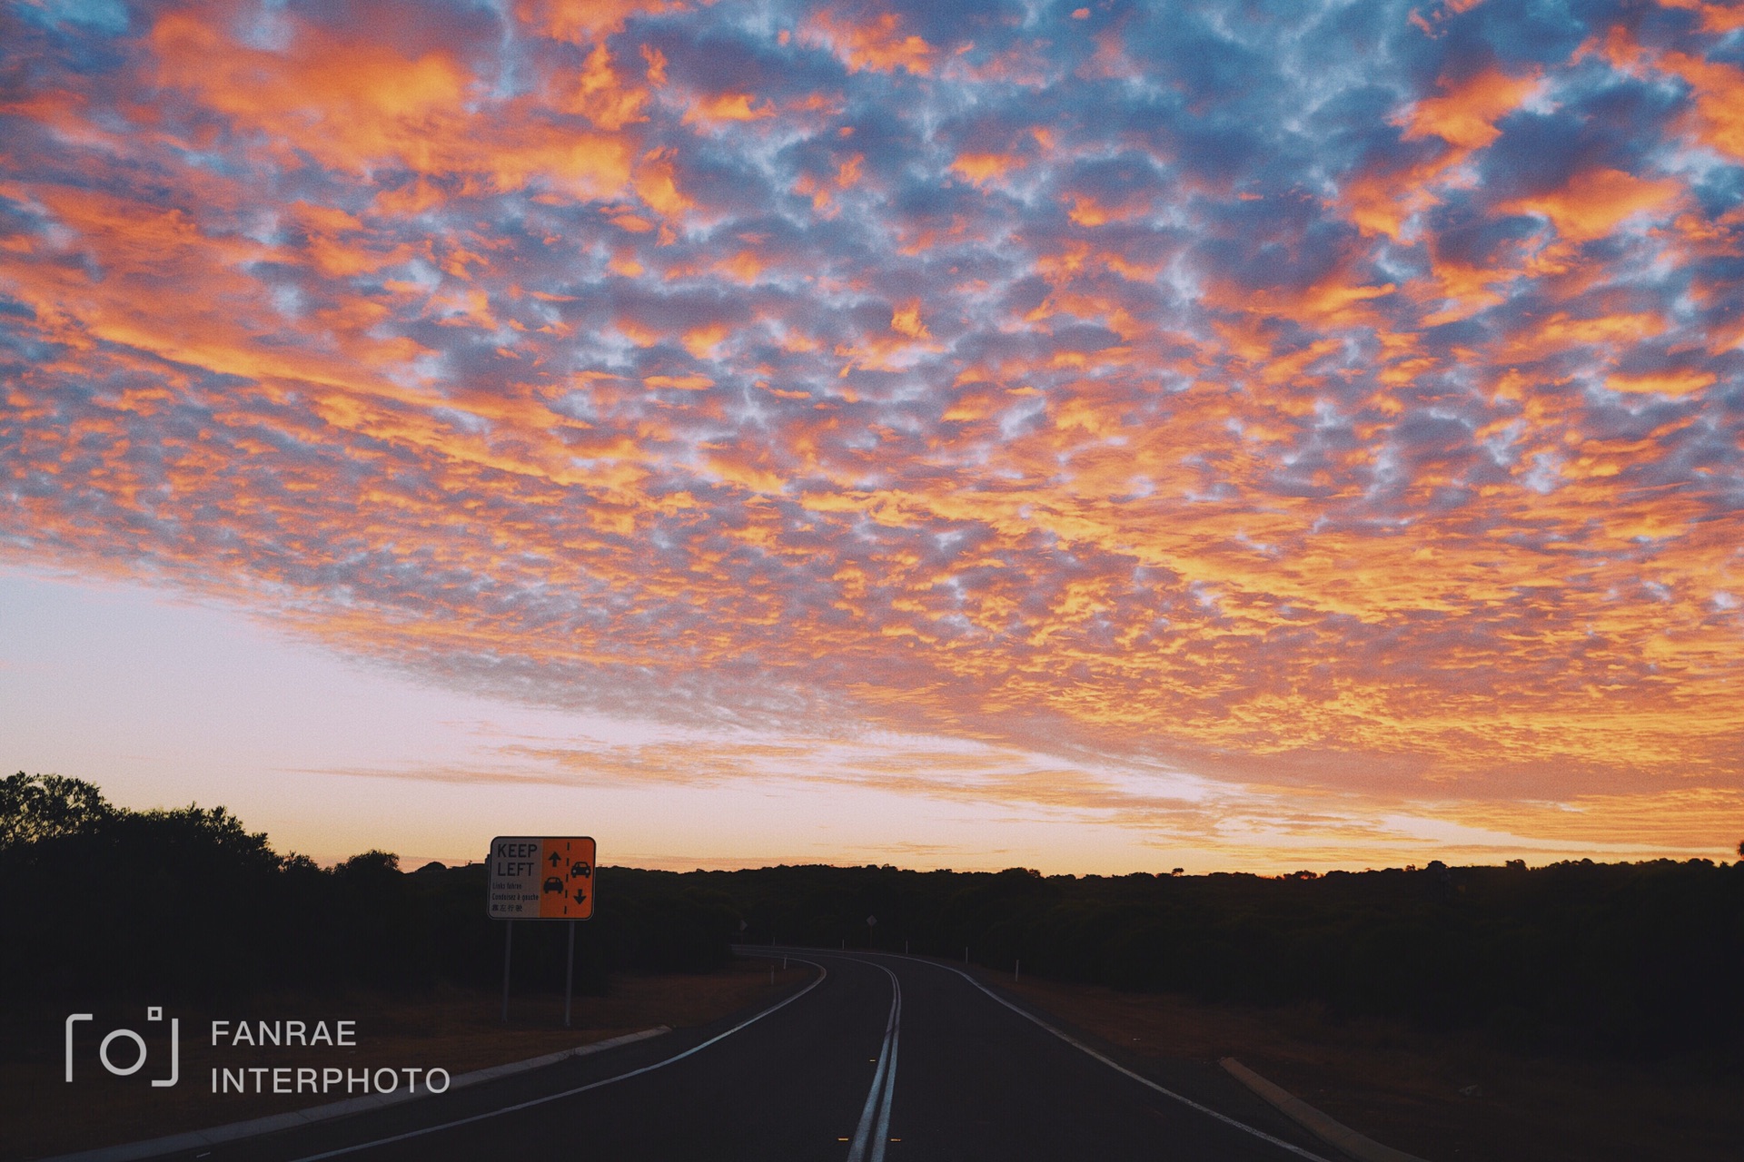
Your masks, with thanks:
[[(732, 904), (678, 876), (600, 868), (576, 988), (610, 970), (717, 969)], [(403, 873), (364, 852), (323, 869), (225, 808), (133, 812), (75, 779), (0, 779), (0, 988), (38, 1000), (209, 1000), (262, 990), (497, 986), (504, 925), (485, 866)], [(514, 925), (516, 990), (562, 988), (563, 923)]]

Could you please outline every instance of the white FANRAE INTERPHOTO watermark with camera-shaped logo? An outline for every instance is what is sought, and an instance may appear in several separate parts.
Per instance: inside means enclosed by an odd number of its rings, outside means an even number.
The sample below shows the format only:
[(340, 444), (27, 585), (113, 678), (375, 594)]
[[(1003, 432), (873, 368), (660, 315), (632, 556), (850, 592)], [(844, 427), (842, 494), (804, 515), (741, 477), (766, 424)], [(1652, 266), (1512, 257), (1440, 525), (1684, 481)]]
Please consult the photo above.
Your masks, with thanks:
[[(145, 1010), (148, 1033), (131, 1028), (101, 1031), (84, 1028), (94, 1023), (94, 1014), (66, 1016), (66, 1084), (75, 1084), (80, 1061), (96, 1064), (115, 1077), (133, 1077), (146, 1068), (153, 1045), (162, 1052), (166, 1073), (150, 1077), (153, 1089), (167, 1089), (181, 1080), (181, 1019), (164, 1017), (162, 1005)], [(157, 1026), (157, 1028), (152, 1028)], [(167, 1026), (167, 1031), (164, 1030)], [(441, 1094), (448, 1091), (448, 1070), (441, 1066), (378, 1066), (356, 1068), (333, 1064), (326, 1052), (358, 1047), (358, 1021), (307, 1019), (220, 1019), (209, 1023), (209, 1047), (225, 1056), (211, 1064), (208, 1085), (213, 1094)], [(305, 1051), (309, 1064), (255, 1064), (255, 1052), (265, 1049)], [(153, 1066), (155, 1071), (157, 1066)]]

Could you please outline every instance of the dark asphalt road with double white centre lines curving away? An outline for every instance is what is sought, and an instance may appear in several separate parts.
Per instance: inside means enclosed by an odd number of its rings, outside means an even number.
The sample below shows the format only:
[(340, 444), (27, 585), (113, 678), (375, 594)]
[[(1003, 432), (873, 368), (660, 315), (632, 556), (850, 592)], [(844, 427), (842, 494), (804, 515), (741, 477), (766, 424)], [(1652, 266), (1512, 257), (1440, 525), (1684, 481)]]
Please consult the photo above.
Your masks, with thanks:
[(750, 1023), (753, 1012), (178, 1157), (1285, 1162), (1329, 1153), (1216, 1070), (1179, 1063), (1174, 1075), (1153, 1073), (1177, 1094), (1168, 1096), (1060, 1040), (947, 965), (792, 955), (818, 965), (821, 979)]

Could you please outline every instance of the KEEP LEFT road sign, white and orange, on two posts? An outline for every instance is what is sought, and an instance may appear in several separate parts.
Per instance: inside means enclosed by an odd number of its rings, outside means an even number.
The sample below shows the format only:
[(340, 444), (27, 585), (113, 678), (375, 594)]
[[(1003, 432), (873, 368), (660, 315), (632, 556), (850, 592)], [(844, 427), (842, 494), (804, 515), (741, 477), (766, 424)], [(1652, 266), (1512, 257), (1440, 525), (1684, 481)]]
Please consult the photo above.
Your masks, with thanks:
[(593, 918), (595, 845), (591, 836), (497, 836), (490, 841), (485, 911), (504, 920), (502, 1023), (509, 1023), (509, 951), (516, 920), (569, 920), (563, 967), (563, 1028), (576, 993), (576, 922)]

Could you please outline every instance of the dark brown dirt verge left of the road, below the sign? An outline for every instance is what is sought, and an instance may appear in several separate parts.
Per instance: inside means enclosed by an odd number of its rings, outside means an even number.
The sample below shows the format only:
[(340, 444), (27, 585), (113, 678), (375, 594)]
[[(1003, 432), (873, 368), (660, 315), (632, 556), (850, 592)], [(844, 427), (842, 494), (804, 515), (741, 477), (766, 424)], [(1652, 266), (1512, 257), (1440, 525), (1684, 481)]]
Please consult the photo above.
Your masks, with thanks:
[[(513, 996), (509, 1024), (501, 1023), (502, 995), (445, 990), (417, 998), (368, 993), (352, 996), (274, 995), (223, 1005), (221, 1010), (171, 1009), (180, 1017), (181, 1077), (173, 1087), (153, 1089), (148, 1078), (169, 1073), (167, 1021), (148, 1021), (140, 1005), (94, 1010), (75, 1028), (72, 1085), (65, 1080), (65, 1012), (7, 1012), (0, 1016), (0, 1160), (38, 1159), (124, 1141), (159, 1138), (190, 1129), (305, 1110), (344, 1101), (335, 1087), (326, 1094), (274, 1094), (272, 1075), (262, 1075), (269, 1092), (213, 1092), (213, 1068), (338, 1066), (347, 1071), (443, 1068), (459, 1077), (509, 1061), (574, 1049), (619, 1033), (668, 1024), (684, 1028), (773, 1000), (807, 977), (807, 969), (776, 969), (767, 962), (734, 962), (708, 976), (617, 976), (603, 996), (576, 996), (572, 1026), (563, 1028), (562, 995)], [(317, 1021), (335, 1033), (338, 1021), (356, 1021), (351, 1047), (213, 1045), (211, 1023)], [(98, 1061), (103, 1037), (115, 1028), (138, 1031), (148, 1047), (145, 1066), (131, 1077), (113, 1077)], [(305, 1033), (307, 1035), (307, 1033)], [(281, 1031), (283, 1037), (283, 1031)], [(110, 1061), (127, 1068), (138, 1049), (122, 1038)], [(295, 1085), (295, 1073), (288, 1075)], [(399, 1078), (405, 1085), (405, 1078)], [(255, 1077), (246, 1078), (253, 1091)], [(351, 1096), (358, 1096), (352, 1092)]]

